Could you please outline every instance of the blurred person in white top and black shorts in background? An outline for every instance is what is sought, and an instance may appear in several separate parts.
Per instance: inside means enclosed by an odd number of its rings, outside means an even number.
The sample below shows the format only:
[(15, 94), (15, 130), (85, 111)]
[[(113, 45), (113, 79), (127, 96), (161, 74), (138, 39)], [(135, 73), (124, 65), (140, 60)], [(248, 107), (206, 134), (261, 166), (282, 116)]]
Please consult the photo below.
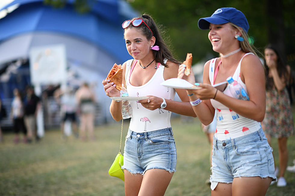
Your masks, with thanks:
[(77, 101), (75, 97), (74, 89), (70, 86), (67, 86), (64, 91), (56, 90), (54, 92), (54, 98), (58, 104), (61, 106), (61, 133), (62, 139), (66, 140), (67, 136), (70, 133), (66, 133), (65, 123), (70, 123), (70, 130), (73, 131), (73, 134), (76, 138), (79, 137), (77, 129)]

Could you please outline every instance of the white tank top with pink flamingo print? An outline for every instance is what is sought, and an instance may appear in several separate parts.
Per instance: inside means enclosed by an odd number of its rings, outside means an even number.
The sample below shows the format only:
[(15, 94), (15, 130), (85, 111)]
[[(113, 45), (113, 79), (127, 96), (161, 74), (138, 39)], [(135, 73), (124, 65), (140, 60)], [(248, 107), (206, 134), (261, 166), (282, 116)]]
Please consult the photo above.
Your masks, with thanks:
[[(158, 63), (157, 71), (154, 76), (146, 84), (142, 86), (132, 86), (130, 84), (130, 71), (132, 60), (126, 63), (126, 87), (129, 96), (141, 97), (154, 95), (157, 97), (174, 100), (175, 90), (160, 85), (164, 81), (163, 73), (165, 66)], [(148, 110), (137, 101), (130, 101), (132, 107), (132, 118), (130, 120), (129, 129), (131, 131), (142, 133), (146, 131), (155, 131), (163, 128), (171, 127), (171, 112), (164, 109)]]

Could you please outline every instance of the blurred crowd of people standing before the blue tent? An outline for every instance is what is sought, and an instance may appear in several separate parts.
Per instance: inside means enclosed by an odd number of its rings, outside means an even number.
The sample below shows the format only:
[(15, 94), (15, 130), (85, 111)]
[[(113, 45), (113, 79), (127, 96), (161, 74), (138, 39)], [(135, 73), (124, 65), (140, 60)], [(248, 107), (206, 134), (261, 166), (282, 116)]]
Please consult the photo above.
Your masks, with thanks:
[[(13, 90), (13, 99), (9, 106), (0, 100), (0, 121), (10, 119), (14, 131), (15, 144), (38, 142), (38, 113), (43, 113), (45, 129), (56, 128), (59, 123), (61, 139), (73, 135), (82, 141), (95, 140), (95, 93), (88, 83), (80, 87), (61, 87), (61, 85), (48, 85), (42, 90), (40, 96), (35, 94), (33, 86), (26, 86), (21, 91)], [(8, 108), (10, 107), (10, 108)], [(0, 126), (0, 142), (4, 142)]]

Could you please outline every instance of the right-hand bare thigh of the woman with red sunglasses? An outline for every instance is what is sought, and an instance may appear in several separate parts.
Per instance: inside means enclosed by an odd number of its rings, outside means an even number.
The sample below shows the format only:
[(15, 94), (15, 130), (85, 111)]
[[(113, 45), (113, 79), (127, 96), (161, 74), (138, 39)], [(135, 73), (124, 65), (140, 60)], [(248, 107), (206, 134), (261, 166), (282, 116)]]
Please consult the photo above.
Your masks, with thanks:
[(162, 169), (150, 169), (144, 173), (138, 196), (161, 196), (172, 179), (173, 173)]

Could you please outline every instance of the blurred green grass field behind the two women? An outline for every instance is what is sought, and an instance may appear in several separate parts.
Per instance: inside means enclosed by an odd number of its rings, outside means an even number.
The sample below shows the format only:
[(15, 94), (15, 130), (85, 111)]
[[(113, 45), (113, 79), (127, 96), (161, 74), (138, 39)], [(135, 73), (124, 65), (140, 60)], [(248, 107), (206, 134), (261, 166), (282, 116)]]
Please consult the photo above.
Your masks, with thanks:
[[(15, 145), (12, 133), (0, 143), (0, 195), (124, 195), (122, 180), (108, 175), (120, 143), (120, 122), (96, 127), (94, 142), (70, 136), (61, 140), (59, 130), (48, 130), (38, 143)], [(210, 195), (210, 146), (199, 120), (172, 120), (177, 147), (177, 172), (165, 195)], [(124, 123), (123, 140), (128, 129)], [(124, 147), (124, 144), (123, 144)], [(278, 164), (277, 141), (272, 140)], [(289, 162), (295, 159), (295, 137), (288, 140)], [(286, 171), (288, 185), (269, 187), (266, 195), (295, 195), (295, 173)]]

